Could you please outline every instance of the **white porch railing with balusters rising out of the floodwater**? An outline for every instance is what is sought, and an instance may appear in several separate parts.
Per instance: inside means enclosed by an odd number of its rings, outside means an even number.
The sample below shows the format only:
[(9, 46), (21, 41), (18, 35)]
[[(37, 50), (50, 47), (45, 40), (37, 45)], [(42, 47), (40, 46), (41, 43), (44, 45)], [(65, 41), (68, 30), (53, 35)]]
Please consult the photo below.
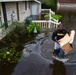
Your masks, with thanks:
[(50, 14), (49, 20), (33, 20), (32, 22), (40, 25), (41, 28), (51, 28), (51, 29), (57, 28), (57, 26), (61, 22), (58, 22), (58, 20), (55, 20), (54, 18), (51, 17), (51, 15), (55, 14), (55, 12), (53, 12), (51, 9), (42, 9), (41, 11), (49, 11), (48, 12), (48, 14)]

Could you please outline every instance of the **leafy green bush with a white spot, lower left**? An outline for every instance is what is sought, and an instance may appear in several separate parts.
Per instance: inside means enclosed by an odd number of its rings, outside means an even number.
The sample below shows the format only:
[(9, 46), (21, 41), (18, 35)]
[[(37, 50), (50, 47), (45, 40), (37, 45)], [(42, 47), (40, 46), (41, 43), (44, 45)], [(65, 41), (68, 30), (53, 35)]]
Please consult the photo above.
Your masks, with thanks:
[(17, 52), (13, 48), (6, 47), (0, 50), (0, 66), (8, 65), (10, 63), (17, 63), (21, 57), (21, 52)]

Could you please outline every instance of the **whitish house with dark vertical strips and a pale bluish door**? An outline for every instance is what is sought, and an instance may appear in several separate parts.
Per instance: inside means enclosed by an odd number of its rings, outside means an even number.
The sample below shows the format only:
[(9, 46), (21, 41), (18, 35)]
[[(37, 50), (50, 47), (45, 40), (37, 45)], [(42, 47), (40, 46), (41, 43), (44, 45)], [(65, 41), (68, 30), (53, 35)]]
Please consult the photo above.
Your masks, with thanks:
[(0, 26), (5, 21), (11, 20), (14, 12), (14, 19), (23, 21), (31, 15), (41, 13), (41, 2), (39, 0), (0, 0)]

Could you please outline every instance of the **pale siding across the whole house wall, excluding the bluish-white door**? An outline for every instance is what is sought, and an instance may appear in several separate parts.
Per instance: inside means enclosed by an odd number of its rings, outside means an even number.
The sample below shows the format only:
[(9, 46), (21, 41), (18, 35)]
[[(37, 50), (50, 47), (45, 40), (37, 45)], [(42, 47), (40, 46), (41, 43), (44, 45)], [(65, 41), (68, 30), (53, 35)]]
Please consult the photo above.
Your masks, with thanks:
[[(25, 2), (27, 2), (27, 10), (25, 9)], [(21, 1), (21, 2), (5, 2), (5, 8), (6, 8), (6, 16), (7, 20), (11, 20), (11, 14), (14, 11), (15, 14), (15, 20), (18, 21), (24, 21), (28, 16), (32, 15), (32, 4), (35, 3), (37, 8), (37, 15), (41, 13), (41, 3), (37, 3), (35, 1)], [(29, 8), (30, 4), (30, 8)], [(0, 3), (0, 7), (2, 7)], [(1, 8), (2, 10), (2, 8)], [(4, 17), (3, 17), (3, 11), (1, 11), (1, 20), (2, 23), (4, 23)]]

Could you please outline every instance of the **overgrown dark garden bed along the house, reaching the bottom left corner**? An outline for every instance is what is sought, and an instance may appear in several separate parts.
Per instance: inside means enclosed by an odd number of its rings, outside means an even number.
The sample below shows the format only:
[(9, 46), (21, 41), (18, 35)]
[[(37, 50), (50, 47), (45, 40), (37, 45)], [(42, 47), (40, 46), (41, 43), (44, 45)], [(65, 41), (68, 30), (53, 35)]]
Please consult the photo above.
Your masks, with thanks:
[[(8, 75), (10, 75), (10, 72), (12, 73), (16, 64), (20, 61), (24, 45), (34, 38), (34, 33), (29, 34), (25, 25), (17, 25), (0, 40), (1, 75), (5, 75), (6, 72)], [(7, 68), (11, 71), (9, 72)]]

